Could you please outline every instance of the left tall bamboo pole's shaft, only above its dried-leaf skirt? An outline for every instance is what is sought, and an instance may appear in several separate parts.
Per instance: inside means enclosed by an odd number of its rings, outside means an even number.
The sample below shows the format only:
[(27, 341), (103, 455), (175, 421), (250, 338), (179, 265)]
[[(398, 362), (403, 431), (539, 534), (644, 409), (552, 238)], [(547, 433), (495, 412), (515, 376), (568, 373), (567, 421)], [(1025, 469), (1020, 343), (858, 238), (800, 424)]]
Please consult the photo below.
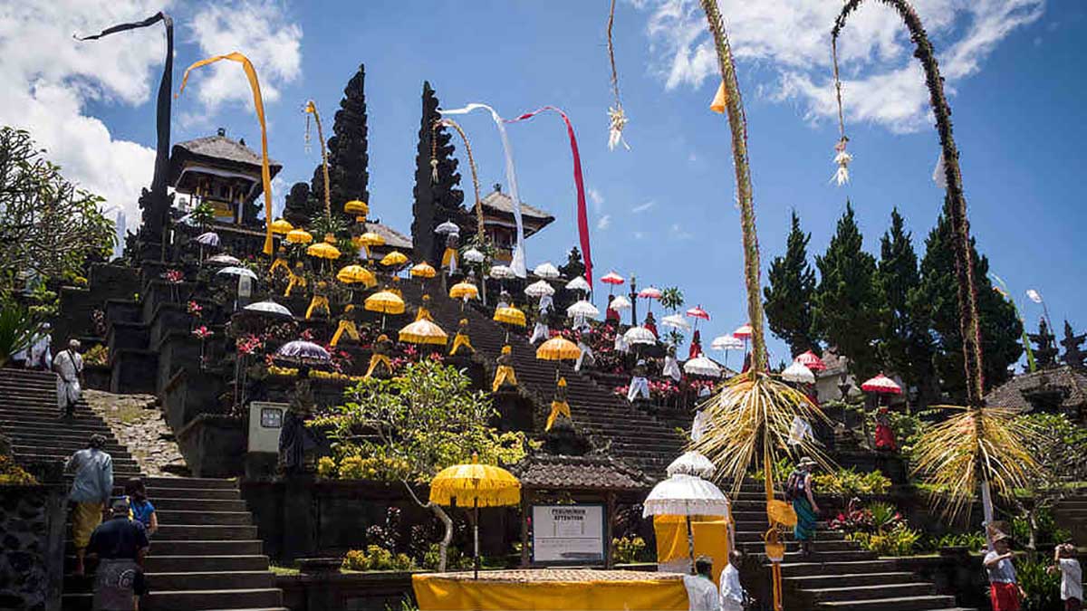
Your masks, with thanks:
[(717, 51), (717, 66), (725, 87), (725, 108), (733, 135), (733, 162), (736, 170), (736, 199), (740, 205), (740, 226), (744, 234), (744, 277), (747, 285), (748, 321), (751, 324), (751, 367), (749, 372), (766, 369), (766, 339), (763, 332), (762, 291), (759, 290), (759, 236), (754, 225), (754, 203), (751, 198), (751, 169), (747, 157), (747, 117), (740, 100), (736, 79), (736, 64), (725, 34), (724, 18), (715, 0), (701, 0), (702, 10), (710, 24)]

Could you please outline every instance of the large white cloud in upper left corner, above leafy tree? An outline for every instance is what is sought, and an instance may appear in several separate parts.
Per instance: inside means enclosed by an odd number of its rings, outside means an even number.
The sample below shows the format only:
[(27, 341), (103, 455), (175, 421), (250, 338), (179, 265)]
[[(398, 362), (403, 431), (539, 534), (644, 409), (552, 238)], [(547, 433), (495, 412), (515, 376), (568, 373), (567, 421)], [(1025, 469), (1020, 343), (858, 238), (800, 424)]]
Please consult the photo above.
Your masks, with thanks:
[[(0, 124), (29, 130), (66, 178), (104, 197), (108, 207), (121, 207), (129, 229), (139, 222), (136, 200), (140, 188), (150, 186), (154, 150), (114, 138), (102, 121), (86, 114), (86, 105), (96, 101), (135, 107), (147, 101), (159, 86), (164, 28), (157, 25), (85, 42), (72, 34), (98, 34), (162, 9), (163, 3), (153, 0), (0, 7)], [(146, 113), (153, 125), (153, 108)]]

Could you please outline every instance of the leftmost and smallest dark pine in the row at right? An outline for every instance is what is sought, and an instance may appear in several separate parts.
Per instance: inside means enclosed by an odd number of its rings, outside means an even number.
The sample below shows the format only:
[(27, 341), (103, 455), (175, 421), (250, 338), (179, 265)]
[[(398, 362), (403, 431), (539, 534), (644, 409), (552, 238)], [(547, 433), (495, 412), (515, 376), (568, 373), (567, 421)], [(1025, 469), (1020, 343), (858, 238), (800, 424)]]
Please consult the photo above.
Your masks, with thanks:
[(800, 230), (800, 216), (792, 211), (792, 228), (784, 257), (770, 263), (770, 285), (762, 289), (770, 331), (789, 345), (796, 357), (816, 348), (812, 337), (812, 297), (815, 271), (808, 263), (811, 234)]

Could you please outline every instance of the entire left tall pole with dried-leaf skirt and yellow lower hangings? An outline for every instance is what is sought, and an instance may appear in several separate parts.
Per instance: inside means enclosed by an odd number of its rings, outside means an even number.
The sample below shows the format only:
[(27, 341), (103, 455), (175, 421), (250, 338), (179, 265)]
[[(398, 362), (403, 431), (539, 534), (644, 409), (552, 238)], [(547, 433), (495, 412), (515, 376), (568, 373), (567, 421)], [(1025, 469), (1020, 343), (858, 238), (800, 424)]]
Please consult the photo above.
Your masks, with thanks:
[[(783, 551), (778, 527), (782, 515), (773, 511), (780, 501), (774, 500), (772, 465), (779, 448), (788, 439), (796, 416), (825, 420), (823, 412), (808, 397), (790, 388), (766, 371), (766, 339), (763, 329), (762, 289), (759, 282), (759, 236), (754, 225), (751, 198), (751, 171), (747, 154), (747, 119), (740, 99), (736, 65), (725, 33), (717, 0), (701, 0), (717, 54), (717, 66), (725, 92), (725, 110), (732, 132), (733, 162), (736, 171), (736, 200), (740, 205), (740, 227), (744, 237), (744, 278), (747, 287), (748, 320), (751, 335), (751, 366), (725, 383), (724, 388), (707, 403), (709, 425), (702, 438), (694, 444), (717, 465), (722, 478), (732, 478), (733, 489), (739, 487), (751, 463), (761, 458), (766, 492), (770, 531), (766, 551), (772, 559)], [(804, 439), (801, 450), (827, 463), (828, 460)], [(761, 457), (760, 457), (761, 454)], [(774, 515), (774, 516), (772, 516)], [(782, 609), (782, 576), (778, 562), (773, 563), (774, 608)]]

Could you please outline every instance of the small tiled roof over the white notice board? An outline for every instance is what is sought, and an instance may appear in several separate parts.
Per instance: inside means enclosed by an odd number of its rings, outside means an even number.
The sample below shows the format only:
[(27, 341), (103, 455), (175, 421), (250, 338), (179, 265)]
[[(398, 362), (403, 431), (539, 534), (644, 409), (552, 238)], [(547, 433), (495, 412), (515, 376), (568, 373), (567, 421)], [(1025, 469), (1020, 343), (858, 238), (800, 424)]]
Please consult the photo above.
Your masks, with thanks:
[(642, 490), (646, 475), (608, 456), (534, 453), (513, 466), (524, 488), (563, 490)]

